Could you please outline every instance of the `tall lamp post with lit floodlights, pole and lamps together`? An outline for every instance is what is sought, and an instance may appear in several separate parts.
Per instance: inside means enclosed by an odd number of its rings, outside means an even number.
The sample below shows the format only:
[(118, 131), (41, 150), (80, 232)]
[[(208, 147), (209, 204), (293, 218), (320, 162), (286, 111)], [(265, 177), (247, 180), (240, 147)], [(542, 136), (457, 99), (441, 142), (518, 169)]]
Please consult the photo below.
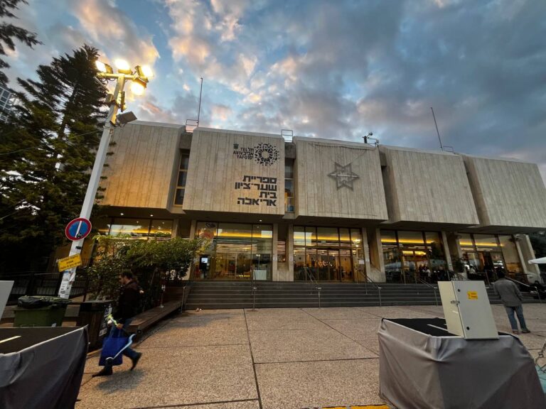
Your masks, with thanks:
[[(106, 98), (106, 104), (109, 105), (108, 115), (106, 117), (105, 127), (102, 131), (102, 136), (100, 137), (97, 156), (95, 156), (95, 163), (91, 170), (89, 184), (87, 185), (87, 191), (85, 192), (85, 199), (83, 200), (82, 209), (80, 211), (80, 217), (84, 219), (89, 219), (91, 217), (91, 210), (95, 202), (95, 195), (97, 195), (102, 168), (105, 165), (110, 137), (112, 136), (114, 126), (116, 125), (117, 111), (121, 110), (123, 112), (125, 109), (124, 86), (127, 82), (132, 82), (131, 90), (133, 94), (141, 95), (144, 93), (144, 89), (146, 89), (149, 78), (153, 76), (149, 67), (137, 65), (132, 69), (129, 62), (125, 60), (116, 60), (114, 62), (114, 65), (117, 67), (117, 72), (114, 72), (114, 69), (104, 62), (97, 60), (95, 64), (99, 71), (97, 72), (97, 77), (102, 80), (115, 81), (116, 86), (114, 92), (108, 94)], [(80, 239), (72, 242), (70, 256), (82, 252), (83, 241), (84, 239)], [(63, 280), (59, 288), (59, 297), (70, 298), (70, 289), (72, 288), (75, 277), (75, 267), (64, 272)]]

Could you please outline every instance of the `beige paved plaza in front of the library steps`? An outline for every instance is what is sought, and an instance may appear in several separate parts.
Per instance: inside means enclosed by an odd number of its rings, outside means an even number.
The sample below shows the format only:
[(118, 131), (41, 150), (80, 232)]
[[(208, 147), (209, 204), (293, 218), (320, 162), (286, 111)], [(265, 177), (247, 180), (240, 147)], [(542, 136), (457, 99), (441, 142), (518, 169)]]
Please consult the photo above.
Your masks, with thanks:
[[(499, 331), (510, 332), (500, 305)], [(524, 305), (533, 356), (546, 340), (546, 305)], [(381, 317), (442, 317), (441, 307), (343, 307), (183, 312), (138, 344), (114, 375), (87, 361), (77, 409), (303, 409), (380, 405)]]

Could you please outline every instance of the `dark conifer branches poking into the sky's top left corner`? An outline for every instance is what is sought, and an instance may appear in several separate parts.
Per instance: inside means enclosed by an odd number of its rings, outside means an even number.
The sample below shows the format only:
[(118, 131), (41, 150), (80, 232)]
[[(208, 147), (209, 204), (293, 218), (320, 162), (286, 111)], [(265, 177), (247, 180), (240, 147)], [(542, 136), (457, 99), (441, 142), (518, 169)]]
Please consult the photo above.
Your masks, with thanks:
[[(13, 10), (18, 9), (18, 4), (27, 4), (26, 0), (0, 0), (0, 18), (16, 18)], [(0, 55), (7, 55), (6, 48), (9, 50), (15, 50), (14, 38), (25, 43), (28, 47), (36, 44), (41, 44), (36, 39), (36, 33), (31, 33), (24, 28), (14, 26), (11, 23), (4, 21), (0, 24)], [(9, 64), (0, 58), (0, 70), (3, 68), (9, 68)], [(6, 85), (8, 77), (4, 72), (0, 71), (0, 84)]]

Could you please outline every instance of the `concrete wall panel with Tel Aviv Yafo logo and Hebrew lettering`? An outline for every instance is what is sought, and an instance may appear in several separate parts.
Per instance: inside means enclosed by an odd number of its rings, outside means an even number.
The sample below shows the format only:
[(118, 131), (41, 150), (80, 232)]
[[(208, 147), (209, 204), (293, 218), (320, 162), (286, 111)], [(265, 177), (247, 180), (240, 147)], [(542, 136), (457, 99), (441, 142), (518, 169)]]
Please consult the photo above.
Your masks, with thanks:
[(284, 139), (264, 133), (196, 129), (183, 209), (284, 214)]

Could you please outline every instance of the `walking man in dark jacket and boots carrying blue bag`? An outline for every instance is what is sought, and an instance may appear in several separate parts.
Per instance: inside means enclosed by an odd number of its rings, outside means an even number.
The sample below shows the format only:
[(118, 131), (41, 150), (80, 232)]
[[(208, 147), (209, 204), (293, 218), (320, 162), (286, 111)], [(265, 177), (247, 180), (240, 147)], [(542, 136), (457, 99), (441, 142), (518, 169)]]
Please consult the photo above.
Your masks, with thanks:
[[(137, 315), (137, 310), (140, 303), (140, 291), (141, 288), (137, 283), (136, 278), (133, 276), (132, 271), (124, 270), (119, 277), (119, 283), (122, 284), (122, 288), (119, 289), (119, 298), (117, 300), (117, 308), (114, 313), (114, 320), (117, 321), (117, 330), (127, 330), (133, 320), (133, 317)], [(116, 330), (114, 328), (112, 331)], [(131, 371), (137, 366), (141, 352), (134, 351), (134, 349), (126, 348), (123, 354), (132, 361)], [(100, 371), (93, 376), (109, 376), (112, 375), (112, 365), (105, 365)]]

